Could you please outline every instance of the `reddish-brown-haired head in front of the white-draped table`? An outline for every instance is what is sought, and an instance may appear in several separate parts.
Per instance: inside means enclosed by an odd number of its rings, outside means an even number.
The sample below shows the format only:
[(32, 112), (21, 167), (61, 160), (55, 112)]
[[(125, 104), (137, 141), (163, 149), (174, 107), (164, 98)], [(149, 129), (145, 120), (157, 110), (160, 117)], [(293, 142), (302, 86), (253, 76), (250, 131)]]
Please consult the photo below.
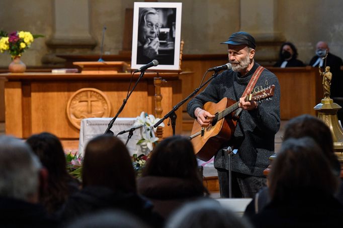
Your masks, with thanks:
[(83, 186), (97, 185), (120, 192), (136, 192), (135, 173), (124, 143), (111, 135), (92, 139), (84, 151)]

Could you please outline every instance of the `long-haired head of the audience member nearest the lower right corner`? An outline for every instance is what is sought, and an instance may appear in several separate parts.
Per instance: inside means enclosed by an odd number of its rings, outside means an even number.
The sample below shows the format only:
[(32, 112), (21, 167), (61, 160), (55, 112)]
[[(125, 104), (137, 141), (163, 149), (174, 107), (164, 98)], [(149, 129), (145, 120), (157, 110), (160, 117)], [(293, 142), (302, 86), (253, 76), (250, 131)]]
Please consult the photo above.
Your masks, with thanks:
[(310, 137), (289, 138), (282, 143), (269, 180), (271, 198), (277, 202), (313, 192), (332, 195), (338, 184), (327, 158)]

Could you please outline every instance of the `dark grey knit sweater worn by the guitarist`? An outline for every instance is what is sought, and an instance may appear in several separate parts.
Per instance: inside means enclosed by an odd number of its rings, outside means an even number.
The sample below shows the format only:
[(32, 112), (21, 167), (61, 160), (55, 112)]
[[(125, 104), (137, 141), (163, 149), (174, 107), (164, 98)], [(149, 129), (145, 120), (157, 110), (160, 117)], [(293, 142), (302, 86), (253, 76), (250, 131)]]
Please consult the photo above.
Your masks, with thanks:
[[(188, 103), (187, 112), (195, 118), (195, 109), (202, 108), (208, 101), (217, 103), (224, 97), (238, 101), (258, 67), (259, 64), (255, 63), (244, 77), (232, 70), (222, 72)], [(265, 69), (252, 90), (252, 93), (259, 92), (270, 85), (275, 85), (272, 100), (262, 102), (255, 110), (242, 110), (233, 136), (223, 144), (223, 148), (230, 145), (238, 149), (232, 156), (232, 171), (264, 176), (263, 170), (269, 165), (269, 157), (274, 153), (275, 134), (280, 128), (279, 81), (275, 74)], [(219, 150), (215, 155), (214, 166), (228, 169), (228, 165), (228, 155)]]

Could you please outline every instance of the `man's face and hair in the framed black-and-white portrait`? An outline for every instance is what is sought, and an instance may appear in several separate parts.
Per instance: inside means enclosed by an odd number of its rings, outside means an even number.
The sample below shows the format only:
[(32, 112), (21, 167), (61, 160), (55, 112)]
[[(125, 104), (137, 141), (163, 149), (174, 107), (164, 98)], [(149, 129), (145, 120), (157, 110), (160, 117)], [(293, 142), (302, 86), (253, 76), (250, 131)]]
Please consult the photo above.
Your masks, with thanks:
[(147, 39), (150, 41), (159, 35), (159, 16), (153, 8), (140, 8), (138, 19), (138, 41), (144, 45)]

